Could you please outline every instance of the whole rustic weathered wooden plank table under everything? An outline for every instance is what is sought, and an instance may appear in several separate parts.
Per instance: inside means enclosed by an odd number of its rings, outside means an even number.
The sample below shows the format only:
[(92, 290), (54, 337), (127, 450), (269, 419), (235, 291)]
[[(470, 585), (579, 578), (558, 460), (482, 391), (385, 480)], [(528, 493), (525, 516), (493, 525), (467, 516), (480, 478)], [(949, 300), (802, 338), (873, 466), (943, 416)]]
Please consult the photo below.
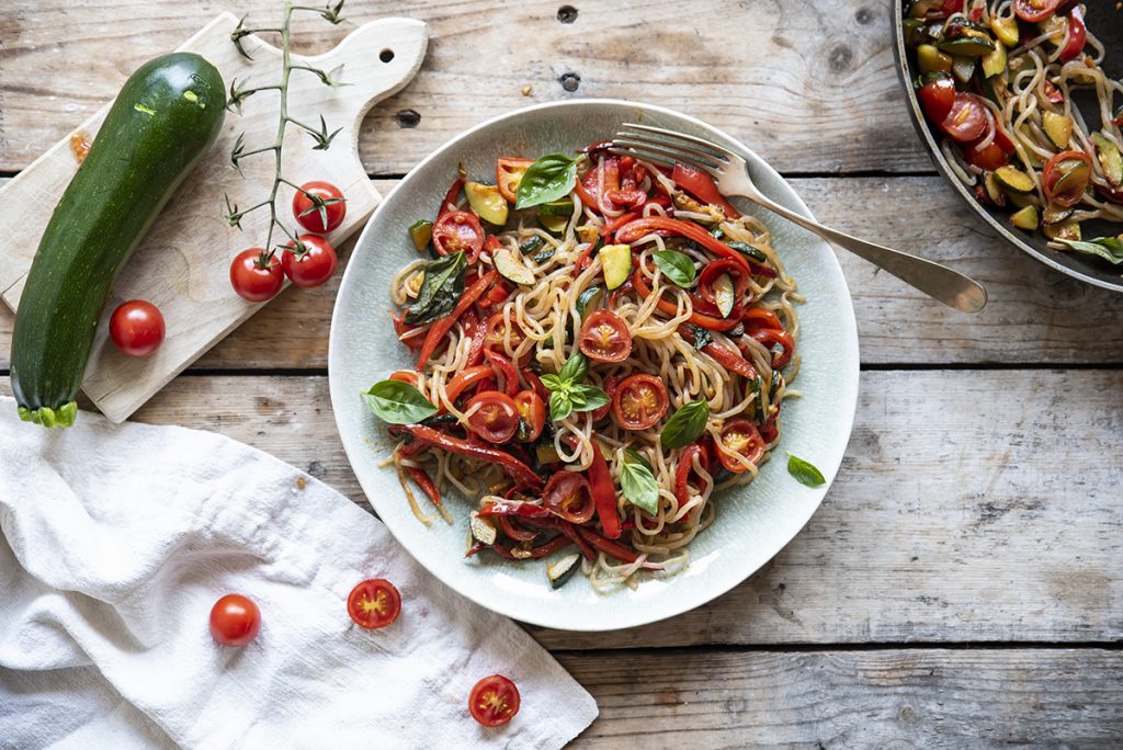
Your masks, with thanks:
[[(707, 606), (617, 633), (530, 629), (600, 703), (578, 744), (1123, 741), (1123, 295), (996, 239), (933, 174), (893, 71), (888, 3), (347, 4), (355, 21), (411, 16), (432, 35), (416, 81), (364, 127), (382, 190), (494, 115), (630, 98), (725, 129), (824, 222), (990, 292), (964, 315), (840, 256), (862, 374), (838, 481), (803, 533)], [(276, 3), (7, 0), (0, 171), (227, 8), (268, 20)], [(343, 34), (322, 28), (300, 25), (303, 48)], [(328, 401), (337, 287), (284, 293), (137, 419), (223, 432), (364, 503)], [(3, 374), (11, 326), (0, 308)]]

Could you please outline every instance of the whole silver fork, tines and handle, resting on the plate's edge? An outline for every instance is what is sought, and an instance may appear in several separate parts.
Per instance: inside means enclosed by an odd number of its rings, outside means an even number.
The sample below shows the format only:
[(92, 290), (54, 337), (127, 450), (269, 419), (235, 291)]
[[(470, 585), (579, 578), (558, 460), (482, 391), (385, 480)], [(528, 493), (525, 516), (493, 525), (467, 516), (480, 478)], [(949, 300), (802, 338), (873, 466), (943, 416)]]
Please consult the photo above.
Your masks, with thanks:
[(723, 195), (747, 198), (884, 268), (949, 308), (978, 312), (986, 305), (986, 289), (958, 271), (824, 227), (772, 201), (752, 184), (745, 159), (722, 146), (649, 125), (624, 122), (623, 127), (612, 139), (613, 147), (609, 150), (613, 154), (630, 154), (667, 166), (681, 162), (702, 170), (718, 181), (718, 189)]

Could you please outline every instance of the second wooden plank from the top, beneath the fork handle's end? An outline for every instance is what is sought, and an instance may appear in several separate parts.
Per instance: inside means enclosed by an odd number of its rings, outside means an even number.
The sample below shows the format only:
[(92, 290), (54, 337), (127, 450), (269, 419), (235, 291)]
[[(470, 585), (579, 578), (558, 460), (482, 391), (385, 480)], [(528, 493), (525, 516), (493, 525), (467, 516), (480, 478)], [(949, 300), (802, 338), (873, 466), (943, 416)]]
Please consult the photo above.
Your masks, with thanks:
[[(394, 184), (375, 181), (383, 194)], [(822, 221), (947, 260), (990, 292), (982, 314), (952, 312), (840, 250), (865, 364), (1123, 362), (1123, 295), (1062, 276), (994, 238), (939, 177), (831, 177), (793, 184)], [(933, 217), (951, 218), (938, 222)], [(353, 244), (341, 250), (349, 253)], [(340, 275), (318, 290), (285, 291), (195, 368), (326, 367)], [(11, 324), (11, 313), (0, 308), (0, 369), (8, 366)]]

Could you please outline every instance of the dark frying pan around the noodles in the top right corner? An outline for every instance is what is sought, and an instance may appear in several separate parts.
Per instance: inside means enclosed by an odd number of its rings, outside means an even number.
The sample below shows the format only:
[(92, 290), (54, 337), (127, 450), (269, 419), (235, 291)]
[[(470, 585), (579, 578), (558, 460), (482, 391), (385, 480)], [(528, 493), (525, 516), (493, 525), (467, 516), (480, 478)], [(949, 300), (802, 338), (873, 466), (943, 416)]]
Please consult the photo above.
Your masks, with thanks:
[[(933, 135), (932, 130), (928, 127), (928, 120), (924, 119), (924, 113), (920, 109), (920, 101), (916, 99), (916, 91), (913, 89), (912, 82), (916, 80), (917, 72), (913, 68), (913, 61), (910, 60), (912, 55), (906, 53), (904, 27), (902, 26), (905, 9), (910, 4), (909, 0), (897, 0), (895, 3), (894, 28), (896, 43), (893, 45), (893, 52), (897, 60), (897, 76), (904, 86), (909, 101), (909, 117), (912, 119), (913, 127), (916, 128), (921, 140), (924, 141), (924, 146), (932, 157), (932, 163), (935, 164), (935, 167), (943, 174), (951, 186), (956, 189), (960, 198), (967, 201), (975, 212), (990, 225), (992, 229), (998, 232), (999, 237), (1016, 245), (1023, 251), (1062, 274), (1079, 278), (1089, 284), (1095, 284), (1096, 286), (1123, 292), (1123, 274), (1120, 273), (1116, 266), (1106, 260), (1099, 260), (1080, 253), (1054, 250), (1049, 247), (1049, 240), (1040, 231), (1031, 234), (1014, 229), (1010, 223), (1008, 211), (989, 208), (980, 203), (974, 193), (971, 193), (971, 189), (965, 185), (956, 176), (955, 172), (951, 171), (948, 159), (940, 152), (939, 136)], [(1104, 70), (1108, 75), (1119, 79), (1123, 76), (1123, 51), (1121, 51), (1123, 49), (1123, 13), (1120, 13), (1114, 8), (1114, 2), (1088, 2), (1086, 7), (1088, 9), (1088, 28), (1107, 48), (1107, 56), (1103, 63)], [(1072, 99), (1080, 111), (1087, 115), (1087, 122), (1089, 125), (1099, 121), (1099, 115), (1096, 113), (1098, 104), (1095, 103), (1095, 98), (1085, 98), (1083, 92), (1079, 92)], [(1119, 234), (1119, 225), (1107, 221), (1089, 221), (1084, 230), (1085, 237), (1113, 236)]]

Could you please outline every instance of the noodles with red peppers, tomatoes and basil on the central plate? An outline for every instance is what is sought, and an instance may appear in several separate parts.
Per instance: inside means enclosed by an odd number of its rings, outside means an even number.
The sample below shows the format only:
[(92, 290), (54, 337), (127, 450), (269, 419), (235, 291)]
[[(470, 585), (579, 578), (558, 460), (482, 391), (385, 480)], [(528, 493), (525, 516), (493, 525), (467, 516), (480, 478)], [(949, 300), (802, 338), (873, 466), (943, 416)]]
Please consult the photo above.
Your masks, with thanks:
[(684, 567), (796, 395), (801, 298), (767, 228), (703, 173), (594, 144), (501, 158), (495, 185), (462, 168), (410, 235), (430, 257), (391, 300), (417, 367), (367, 401), (418, 519), (410, 481), (446, 521), (442, 492), (478, 499), (468, 555), (546, 558), (555, 587)]

